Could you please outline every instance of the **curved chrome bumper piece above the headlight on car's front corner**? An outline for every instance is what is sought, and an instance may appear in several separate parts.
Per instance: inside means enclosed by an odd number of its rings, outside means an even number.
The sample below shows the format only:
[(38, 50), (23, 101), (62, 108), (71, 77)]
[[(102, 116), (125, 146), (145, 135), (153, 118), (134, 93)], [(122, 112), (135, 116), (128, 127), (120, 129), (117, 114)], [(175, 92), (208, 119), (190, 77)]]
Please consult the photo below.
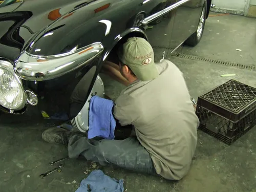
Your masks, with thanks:
[(40, 56), (24, 51), (14, 63), (13, 69), (17, 76), (25, 80), (50, 80), (81, 67), (97, 57), (103, 49), (100, 42), (95, 42), (58, 55)]

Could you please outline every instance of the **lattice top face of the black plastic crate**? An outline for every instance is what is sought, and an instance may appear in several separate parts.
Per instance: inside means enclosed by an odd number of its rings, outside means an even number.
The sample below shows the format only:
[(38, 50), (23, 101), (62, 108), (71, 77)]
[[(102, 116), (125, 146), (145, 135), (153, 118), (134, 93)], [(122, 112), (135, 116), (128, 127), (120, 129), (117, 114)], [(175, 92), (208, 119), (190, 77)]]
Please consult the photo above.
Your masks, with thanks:
[(256, 101), (256, 89), (231, 79), (201, 97), (237, 113)]

